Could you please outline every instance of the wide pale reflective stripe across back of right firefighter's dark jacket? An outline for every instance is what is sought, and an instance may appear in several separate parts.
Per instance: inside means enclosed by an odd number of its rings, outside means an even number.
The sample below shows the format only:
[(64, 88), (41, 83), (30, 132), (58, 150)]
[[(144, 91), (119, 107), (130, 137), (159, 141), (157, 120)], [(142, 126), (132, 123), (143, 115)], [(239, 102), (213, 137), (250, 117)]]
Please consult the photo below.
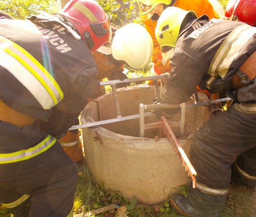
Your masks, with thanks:
[(211, 85), (218, 75), (221, 78), (225, 77), (230, 69), (231, 63), (253, 34), (256, 34), (256, 28), (243, 24), (233, 29), (226, 37), (210, 64), (208, 74), (211, 77), (207, 80), (208, 89), (211, 89)]

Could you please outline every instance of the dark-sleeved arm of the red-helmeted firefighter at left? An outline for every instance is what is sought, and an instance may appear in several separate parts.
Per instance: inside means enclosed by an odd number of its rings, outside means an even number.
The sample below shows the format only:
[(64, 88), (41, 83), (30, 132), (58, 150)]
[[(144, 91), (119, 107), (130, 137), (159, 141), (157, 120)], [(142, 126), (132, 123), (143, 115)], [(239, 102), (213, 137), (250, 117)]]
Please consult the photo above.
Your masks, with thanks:
[(77, 117), (87, 104), (87, 99), (93, 94), (97, 82), (96, 66), (81, 71), (73, 86), (70, 87), (70, 93), (53, 107), (51, 119), (41, 123), (41, 130), (54, 137), (64, 134), (75, 124)]

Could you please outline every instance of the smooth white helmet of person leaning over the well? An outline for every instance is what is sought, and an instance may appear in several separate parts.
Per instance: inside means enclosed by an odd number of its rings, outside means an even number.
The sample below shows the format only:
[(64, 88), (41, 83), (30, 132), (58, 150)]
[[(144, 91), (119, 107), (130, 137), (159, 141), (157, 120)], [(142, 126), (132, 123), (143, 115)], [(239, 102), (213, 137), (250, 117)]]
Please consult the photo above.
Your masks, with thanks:
[(112, 41), (114, 59), (127, 63), (133, 69), (145, 67), (153, 54), (153, 41), (146, 29), (137, 24), (116, 30)]

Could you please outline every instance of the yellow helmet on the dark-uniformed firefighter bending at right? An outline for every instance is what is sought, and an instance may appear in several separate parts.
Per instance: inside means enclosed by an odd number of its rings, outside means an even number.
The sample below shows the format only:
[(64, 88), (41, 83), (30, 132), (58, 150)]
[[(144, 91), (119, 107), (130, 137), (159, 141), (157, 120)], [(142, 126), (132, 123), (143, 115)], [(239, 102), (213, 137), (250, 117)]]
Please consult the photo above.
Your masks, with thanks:
[(177, 7), (168, 7), (159, 17), (155, 34), (163, 53), (165, 52), (164, 46), (175, 47), (180, 26), (188, 14), (197, 18), (194, 11), (185, 11)]

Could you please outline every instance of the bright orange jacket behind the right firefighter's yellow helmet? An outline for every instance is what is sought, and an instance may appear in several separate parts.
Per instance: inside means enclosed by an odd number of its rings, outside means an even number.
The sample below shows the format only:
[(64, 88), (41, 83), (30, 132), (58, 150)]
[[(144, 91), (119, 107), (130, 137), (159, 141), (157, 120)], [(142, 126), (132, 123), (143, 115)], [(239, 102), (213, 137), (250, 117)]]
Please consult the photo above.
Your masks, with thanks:
[[(198, 17), (207, 14), (210, 19), (220, 18), (220, 16), (217, 14), (217, 12), (214, 11), (212, 4), (208, 0), (176, 0), (174, 6), (186, 11), (195, 11)], [(153, 40), (154, 51), (152, 56), (152, 62), (154, 63), (156, 73), (163, 74), (167, 71), (170, 71), (161, 63), (161, 60), (157, 57), (160, 52), (160, 45), (157, 43), (157, 39), (155, 37), (155, 28), (157, 26), (157, 21), (149, 19), (143, 21), (143, 23), (145, 24), (145, 28), (151, 35)]]

